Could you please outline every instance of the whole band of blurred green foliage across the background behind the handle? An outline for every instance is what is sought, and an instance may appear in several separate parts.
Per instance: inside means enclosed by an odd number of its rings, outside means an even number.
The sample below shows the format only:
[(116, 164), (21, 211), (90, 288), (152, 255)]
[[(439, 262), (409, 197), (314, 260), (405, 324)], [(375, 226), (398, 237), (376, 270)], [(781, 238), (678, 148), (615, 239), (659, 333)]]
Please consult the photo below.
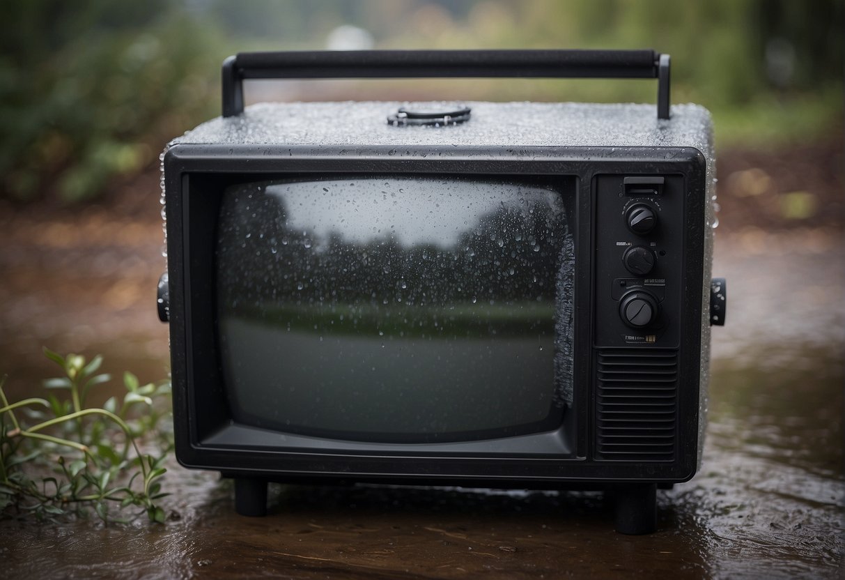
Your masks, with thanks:
[[(810, 139), (842, 119), (840, 0), (29, 0), (5, 3), (0, 21), (0, 196), (98, 194), (217, 114), (227, 54), (321, 49), (345, 24), (377, 48), (653, 47), (673, 57), (673, 102), (710, 108), (720, 143)], [(656, 92), (630, 80), (407, 81), (404, 92), (368, 82), (379, 98), (456, 89), (495, 101), (654, 101)]]

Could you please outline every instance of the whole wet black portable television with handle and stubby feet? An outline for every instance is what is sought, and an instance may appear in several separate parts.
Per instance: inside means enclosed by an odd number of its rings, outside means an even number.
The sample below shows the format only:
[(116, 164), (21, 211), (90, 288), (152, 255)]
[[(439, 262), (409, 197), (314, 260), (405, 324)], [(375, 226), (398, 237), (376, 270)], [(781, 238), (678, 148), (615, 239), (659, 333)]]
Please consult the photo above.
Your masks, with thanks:
[[(286, 103), (242, 79), (644, 76), (646, 105)], [(162, 159), (177, 459), (235, 479), (616, 495), (701, 462), (714, 159), (668, 56), (272, 52)]]

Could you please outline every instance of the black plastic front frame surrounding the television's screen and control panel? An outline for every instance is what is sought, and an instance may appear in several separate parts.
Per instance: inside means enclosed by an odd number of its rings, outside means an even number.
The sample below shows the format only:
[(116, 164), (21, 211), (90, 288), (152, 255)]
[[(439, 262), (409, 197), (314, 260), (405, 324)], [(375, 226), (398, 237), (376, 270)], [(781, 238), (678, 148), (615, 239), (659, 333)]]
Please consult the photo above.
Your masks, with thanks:
[[(671, 462), (598, 461), (591, 439), (593, 248), (596, 176), (681, 174), (686, 179), (684, 280), (701, 287), (705, 161), (693, 148), (572, 147), (349, 149), (174, 145), (165, 157), (172, 381), (177, 459), (186, 467), (266, 479), (356, 479), (489, 484), (681, 481), (697, 464), (701, 297), (684, 298), (681, 320), (678, 451)], [(223, 190), (258, 181), (327, 174), (575, 178), (575, 406), (558, 432), (458, 444), (350, 444), (233, 425), (215, 346), (215, 224)], [(691, 294), (691, 293), (688, 293)], [(696, 303), (697, 300), (697, 303)], [(697, 304), (697, 305), (696, 305)], [(256, 445), (280, 441), (278, 448)], [(259, 439), (255, 439), (259, 437)], [(263, 439), (262, 439), (263, 437)], [(532, 440), (533, 439), (533, 440)]]

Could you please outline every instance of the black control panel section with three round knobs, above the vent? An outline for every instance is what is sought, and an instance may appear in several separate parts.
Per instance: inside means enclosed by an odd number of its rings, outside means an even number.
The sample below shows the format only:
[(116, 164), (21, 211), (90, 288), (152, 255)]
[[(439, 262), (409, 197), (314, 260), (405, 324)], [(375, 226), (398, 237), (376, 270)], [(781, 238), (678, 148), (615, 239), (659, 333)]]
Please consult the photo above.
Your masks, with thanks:
[(701, 283), (684, 261), (684, 228), (701, 220), (687, 211), (691, 186), (681, 172), (649, 173), (664, 180), (651, 194), (628, 194), (624, 178), (632, 176), (604, 174), (594, 182), (593, 341), (599, 348), (679, 347), (680, 320), (701, 304), (687, 304)]

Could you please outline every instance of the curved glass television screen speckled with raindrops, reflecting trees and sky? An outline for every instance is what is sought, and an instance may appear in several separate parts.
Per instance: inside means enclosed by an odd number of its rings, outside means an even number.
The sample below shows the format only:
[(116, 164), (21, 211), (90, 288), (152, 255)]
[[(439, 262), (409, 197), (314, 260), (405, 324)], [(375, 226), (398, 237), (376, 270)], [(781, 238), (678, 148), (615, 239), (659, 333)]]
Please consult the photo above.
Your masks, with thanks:
[(240, 424), (384, 443), (559, 428), (575, 179), (289, 178), (223, 194), (221, 370)]

